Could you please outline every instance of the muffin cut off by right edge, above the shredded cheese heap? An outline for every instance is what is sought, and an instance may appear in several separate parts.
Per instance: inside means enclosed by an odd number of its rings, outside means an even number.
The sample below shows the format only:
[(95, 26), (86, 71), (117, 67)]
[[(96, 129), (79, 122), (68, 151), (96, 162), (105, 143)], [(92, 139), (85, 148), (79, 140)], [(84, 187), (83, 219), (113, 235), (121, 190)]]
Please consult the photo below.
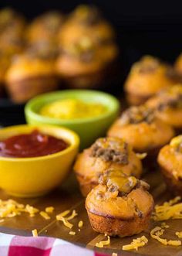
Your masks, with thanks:
[(182, 196), (182, 135), (160, 149), (158, 163), (172, 193)]

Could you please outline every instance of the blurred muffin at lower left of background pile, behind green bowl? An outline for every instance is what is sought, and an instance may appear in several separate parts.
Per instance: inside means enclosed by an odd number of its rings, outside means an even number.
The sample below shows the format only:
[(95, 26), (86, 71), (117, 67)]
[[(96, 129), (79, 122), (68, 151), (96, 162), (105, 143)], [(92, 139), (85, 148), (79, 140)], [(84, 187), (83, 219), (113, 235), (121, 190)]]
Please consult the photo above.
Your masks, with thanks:
[(5, 75), (5, 83), (8, 94), (16, 103), (56, 90), (59, 85), (54, 62), (29, 53), (15, 58)]

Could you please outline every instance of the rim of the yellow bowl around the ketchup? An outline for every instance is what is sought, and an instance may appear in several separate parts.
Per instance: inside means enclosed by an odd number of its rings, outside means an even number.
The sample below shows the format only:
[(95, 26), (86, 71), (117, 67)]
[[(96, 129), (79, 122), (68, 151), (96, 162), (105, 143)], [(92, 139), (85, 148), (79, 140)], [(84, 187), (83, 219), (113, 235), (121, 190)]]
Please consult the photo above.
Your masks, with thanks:
[[(6, 161), (6, 162), (34, 162), (34, 161), (42, 161), (42, 160), (48, 160), (48, 159), (53, 159), (56, 158), (58, 156), (63, 156), (68, 154), (69, 152), (72, 152), (72, 150), (78, 148), (79, 149), (79, 143), (80, 143), (80, 139), (79, 139), (79, 135), (76, 134), (75, 131), (72, 131), (69, 128), (65, 128), (65, 127), (61, 127), (61, 126), (56, 126), (56, 125), (29, 125), (29, 124), (24, 124), (24, 125), (12, 125), (12, 126), (8, 126), (5, 128), (1, 128), (0, 129), (0, 135), (1, 132), (5, 132), (5, 131), (12, 131), (15, 130), (17, 128), (37, 128), (41, 131), (41, 128), (53, 128), (56, 130), (61, 130), (61, 131), (66, 131), (67, 133), (69, 133), (69, 135), (72, 135), (73, 141), (71, 142), (71, 140), (68, 139), (68, 141), (70, 142), (70, 145), (68, 146), (68, 148), (63, 149), (60, 152), (56, 152), (50, 155), (42, 155), (42, 156), (35, 156), (35, 157), (25, 157), (25, 158), (13, 158), (13, 157), (5, 157), (5, 156), (0, 156), (0, 161)], [(22, 131), (23, 132), (23, 131)], [(61, 138), (61, 137), (60, 137)], [(63, 138), (64, 139), (64, 138)]]

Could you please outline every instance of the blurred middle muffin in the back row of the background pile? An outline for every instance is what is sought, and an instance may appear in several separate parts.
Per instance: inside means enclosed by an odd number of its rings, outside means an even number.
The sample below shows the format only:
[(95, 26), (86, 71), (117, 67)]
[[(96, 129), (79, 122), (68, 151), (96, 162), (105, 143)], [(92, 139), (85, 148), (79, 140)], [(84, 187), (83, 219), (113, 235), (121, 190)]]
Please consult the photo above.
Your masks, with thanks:
[(26, 39), (29, 44), (40, 40), (55, 40), (64, 17), (59, 12), (47, 12), (35, 18), (27, 28)]

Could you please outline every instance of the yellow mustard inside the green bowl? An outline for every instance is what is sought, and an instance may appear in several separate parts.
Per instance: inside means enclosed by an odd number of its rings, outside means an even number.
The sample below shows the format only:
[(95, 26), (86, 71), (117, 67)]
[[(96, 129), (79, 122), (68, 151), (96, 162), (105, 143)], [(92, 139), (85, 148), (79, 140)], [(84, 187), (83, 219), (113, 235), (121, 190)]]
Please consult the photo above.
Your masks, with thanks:
[(39, 111), (45, 117), (60, 119), (93, 118), (106, 112), (103, 104), (81, 101), (79, 99), (63, 99), (45, 104)]

